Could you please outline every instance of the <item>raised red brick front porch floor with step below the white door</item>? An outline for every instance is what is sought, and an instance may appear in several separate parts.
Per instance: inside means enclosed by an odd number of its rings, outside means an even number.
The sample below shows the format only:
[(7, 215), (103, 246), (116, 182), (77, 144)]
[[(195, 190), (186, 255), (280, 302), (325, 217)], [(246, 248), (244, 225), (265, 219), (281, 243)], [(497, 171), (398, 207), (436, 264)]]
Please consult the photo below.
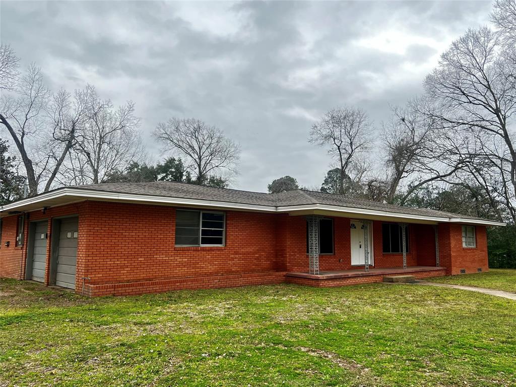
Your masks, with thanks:
[(362, 269), (319, 271), (311, 274), (304, 271), (286, 273), (286, 282), (315, 287), (333, 287), (362, 283), (382, 282), (384, 276), (411, 275), (417, 279), (446, 275), (445, 267), (409, 266)]

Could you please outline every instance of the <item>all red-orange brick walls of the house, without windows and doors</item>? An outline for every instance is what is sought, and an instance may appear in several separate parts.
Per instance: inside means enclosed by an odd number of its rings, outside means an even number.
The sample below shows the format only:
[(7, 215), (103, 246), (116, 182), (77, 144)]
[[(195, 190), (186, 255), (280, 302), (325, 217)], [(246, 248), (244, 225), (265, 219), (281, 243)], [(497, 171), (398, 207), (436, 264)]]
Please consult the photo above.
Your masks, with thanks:
[[(228, 211), (224, 247), (175, 247), (173, 207), (85, 201), (50, 208), (45, 214), (28, 214), (23, 247), (14, 246), (17, 216), (4, 218), (0, 276), (25, 278), (29, 222), (46, 219), (50, 238), (45, 283), (49, 284), (52, 219), (69, 215), (79, 217), (78, 292), (83, 277), (90, 278), (86, 292), (99, 295), (118, 294), (121, 285), (114, 284), (128, 282), (133, 285), (124, 285), (124, 292), (135, 294), (141, 292), (141, 286), (175, 289), (276, 283), (286, 271), (308, 271), (306, 220), (302, 216)], [(334, 253), (319, 257), (320, 270), (357, 268), (351, 266), (349, 224), (348, 218), (334, 218)], [(402, 266), (402, 254), (382, 252), (381, 225), (381, 221), (373, 222), (374, 267)], [(410, 228), (408, 266), (434, 266), (433, 226), (412, 224)], [(478, 267), (487, 270), (486, 228), (477, 227), (475, 249), (462, 248), (461, 235), (459, 224), (439, 225), (441, 266), (453, 274), (462, 268), (466, 272), (476, 272)], [(107, 284), (112, 286), (99, 287)]]

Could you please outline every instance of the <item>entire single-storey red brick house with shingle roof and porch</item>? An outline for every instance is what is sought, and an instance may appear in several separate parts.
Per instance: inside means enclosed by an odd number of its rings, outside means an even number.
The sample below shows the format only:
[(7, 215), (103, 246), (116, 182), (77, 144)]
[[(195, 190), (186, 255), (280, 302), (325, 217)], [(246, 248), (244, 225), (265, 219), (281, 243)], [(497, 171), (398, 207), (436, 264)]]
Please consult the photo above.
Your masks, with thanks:
[(89, 296), (488, 270), (487, 219), (295, 190), (55, 189), (1, 209), (0, 277)]

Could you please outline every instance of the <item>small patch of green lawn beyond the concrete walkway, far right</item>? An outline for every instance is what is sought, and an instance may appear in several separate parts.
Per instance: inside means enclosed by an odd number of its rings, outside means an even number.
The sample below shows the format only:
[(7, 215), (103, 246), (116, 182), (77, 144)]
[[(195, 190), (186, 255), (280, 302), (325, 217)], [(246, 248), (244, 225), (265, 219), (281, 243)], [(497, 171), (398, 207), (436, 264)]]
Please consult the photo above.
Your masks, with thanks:
[(490, 269), (484, 273), (463, 274), (460, 276), (437, 277), (432, 282), (485, 287), (516, 293), (516, 269)]

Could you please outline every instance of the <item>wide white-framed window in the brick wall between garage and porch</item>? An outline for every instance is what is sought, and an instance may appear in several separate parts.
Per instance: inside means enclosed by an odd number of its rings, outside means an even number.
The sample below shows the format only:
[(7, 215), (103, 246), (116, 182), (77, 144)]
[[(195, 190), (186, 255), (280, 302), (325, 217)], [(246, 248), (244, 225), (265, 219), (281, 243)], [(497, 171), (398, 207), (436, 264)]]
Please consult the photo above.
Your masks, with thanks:
[(175, 214), (176, 246), (224, 246), (224, 213), (178, 209)]

